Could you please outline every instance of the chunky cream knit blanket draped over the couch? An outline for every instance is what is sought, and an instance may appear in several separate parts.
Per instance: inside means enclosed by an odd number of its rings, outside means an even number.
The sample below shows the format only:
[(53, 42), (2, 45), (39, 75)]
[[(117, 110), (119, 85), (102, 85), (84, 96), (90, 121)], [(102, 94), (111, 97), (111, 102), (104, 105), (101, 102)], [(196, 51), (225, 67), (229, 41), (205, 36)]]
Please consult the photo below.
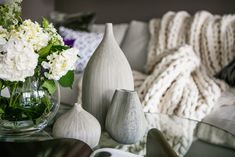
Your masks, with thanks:
[(213, 76), (235, 56), (235, 16), (168, 12), (150, 21), (146, 72), (134, 72), (145, 112), (201, 120), (225, 83)]

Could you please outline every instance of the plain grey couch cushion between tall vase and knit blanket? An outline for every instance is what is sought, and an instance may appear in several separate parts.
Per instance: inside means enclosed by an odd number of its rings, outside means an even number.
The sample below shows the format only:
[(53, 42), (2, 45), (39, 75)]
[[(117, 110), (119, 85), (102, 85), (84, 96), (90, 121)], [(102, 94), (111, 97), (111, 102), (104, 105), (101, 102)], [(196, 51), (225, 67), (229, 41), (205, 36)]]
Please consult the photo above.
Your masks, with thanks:
[(132, 21), (121, 44), (132, 69), (145, 71), (148, 42), (148, 23)]

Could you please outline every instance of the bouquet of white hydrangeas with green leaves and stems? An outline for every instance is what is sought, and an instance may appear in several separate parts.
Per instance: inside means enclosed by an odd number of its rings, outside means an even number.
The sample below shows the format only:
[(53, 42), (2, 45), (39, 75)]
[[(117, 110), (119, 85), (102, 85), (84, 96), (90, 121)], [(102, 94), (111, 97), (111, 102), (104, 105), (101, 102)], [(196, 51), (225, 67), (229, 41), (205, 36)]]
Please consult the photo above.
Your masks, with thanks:
[(21, 2), (8, 0), (0, 5), (0, 92), (7, 88), (10, 93), (10, 97), (0, 95), (0, 119), (36, 121), (49, 111), (50, 98), (43, 96), (34, 100), (33, 108), (25, 109), (20, 104), (22, 93), (17, 89), (32, 78), (39, 84), (36, 88), (46, 90), (49, 95), (56, 91), (56, 82), (71, 87), (78, 50), (64, 45), (45, 18), (42, 24), (22, 20)]

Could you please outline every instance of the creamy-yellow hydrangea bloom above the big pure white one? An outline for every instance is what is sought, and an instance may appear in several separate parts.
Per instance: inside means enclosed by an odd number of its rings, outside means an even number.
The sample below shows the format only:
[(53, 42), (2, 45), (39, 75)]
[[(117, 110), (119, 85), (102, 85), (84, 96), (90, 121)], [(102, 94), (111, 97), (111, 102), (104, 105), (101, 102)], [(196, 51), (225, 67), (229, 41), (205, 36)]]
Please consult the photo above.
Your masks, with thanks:
[(18, 37), (20, 40), (25, 40), (25, 42), (32, 45), (35, 51), (47, 46), (50, 41), (49, 34), (44, 32), (37, 22), (32, 22), (31, 20), (25, 20), (18, 30), (11, 32), (11, 35)]

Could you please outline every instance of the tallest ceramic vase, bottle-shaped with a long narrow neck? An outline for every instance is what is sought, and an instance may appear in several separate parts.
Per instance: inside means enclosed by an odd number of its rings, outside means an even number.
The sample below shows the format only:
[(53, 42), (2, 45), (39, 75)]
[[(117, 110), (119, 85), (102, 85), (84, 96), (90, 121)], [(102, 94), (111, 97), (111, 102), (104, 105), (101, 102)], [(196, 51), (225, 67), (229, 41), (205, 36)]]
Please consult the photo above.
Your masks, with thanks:
[(130, 65), (117, 44), (112, 24), (106, 24), (100, 45), (84, 71), (82, 104), (104, 129), (105, 118), (116, 89), (134, 89)]

